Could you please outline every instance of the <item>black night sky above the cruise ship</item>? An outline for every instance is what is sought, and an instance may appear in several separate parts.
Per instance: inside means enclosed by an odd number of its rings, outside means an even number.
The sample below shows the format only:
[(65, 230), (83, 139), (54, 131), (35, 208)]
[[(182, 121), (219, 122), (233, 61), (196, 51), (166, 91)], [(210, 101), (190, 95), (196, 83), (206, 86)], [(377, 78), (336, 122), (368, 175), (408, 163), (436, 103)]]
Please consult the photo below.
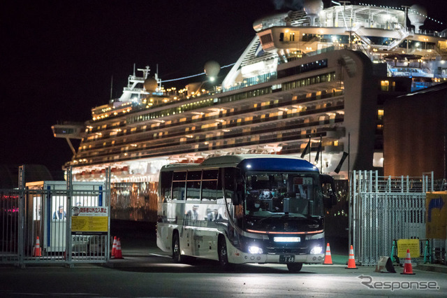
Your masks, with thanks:
[[(8, 2), (8, 3), (5, 3)], [(325, 7), (330, 1), (323, 0)], [(425, 4), (444, 22), (445, 1), (358, 1)], [(208, 60), (234, 63), (254, 37), (252, 24), (302, 1), (55, 0), (0, 4), (0, 164), (43, 164), (52, 172), (71, 159), (57, 122), (85, 122), (91, 108), (119, 97), (137, 68), (159, 66), (162, 80), (203, 72)], [(426, 26), (426, 28), (429, 26)], [(424, 27), (423, 27), (424, 28)], [(198, 77), (194, 80), (205, 80)], [(165, 83), (184, 87), (190, 81)]]

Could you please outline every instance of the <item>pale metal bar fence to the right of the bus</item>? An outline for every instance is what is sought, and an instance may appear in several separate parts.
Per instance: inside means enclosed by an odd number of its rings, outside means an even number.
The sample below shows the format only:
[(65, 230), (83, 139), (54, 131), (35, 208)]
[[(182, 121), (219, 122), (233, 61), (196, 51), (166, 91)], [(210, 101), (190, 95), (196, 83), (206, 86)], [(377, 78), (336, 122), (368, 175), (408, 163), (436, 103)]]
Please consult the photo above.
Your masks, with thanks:
[(425, 194), (443, 187), (444, 183), (433, 180), (432, 173), (410, 178), (353, 171), (349, 243), (357, 262), (376, 264), (380, 256), (390, 255), (395, 239), (425, 239)]

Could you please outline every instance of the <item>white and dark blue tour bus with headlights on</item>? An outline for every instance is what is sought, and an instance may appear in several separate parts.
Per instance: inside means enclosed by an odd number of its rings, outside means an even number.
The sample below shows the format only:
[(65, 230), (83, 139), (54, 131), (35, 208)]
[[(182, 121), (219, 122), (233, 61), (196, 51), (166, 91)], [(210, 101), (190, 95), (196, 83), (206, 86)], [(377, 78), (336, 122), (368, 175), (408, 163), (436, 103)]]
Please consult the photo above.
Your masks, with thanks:
[[(331, 190), (323, 194), (326, 184)], [(157, 246), (232, 264), (280, 263), (298, 272), (324, 259), (323, 206), (333, 179), (284, 155), (226, 155), (160, 171)]]

